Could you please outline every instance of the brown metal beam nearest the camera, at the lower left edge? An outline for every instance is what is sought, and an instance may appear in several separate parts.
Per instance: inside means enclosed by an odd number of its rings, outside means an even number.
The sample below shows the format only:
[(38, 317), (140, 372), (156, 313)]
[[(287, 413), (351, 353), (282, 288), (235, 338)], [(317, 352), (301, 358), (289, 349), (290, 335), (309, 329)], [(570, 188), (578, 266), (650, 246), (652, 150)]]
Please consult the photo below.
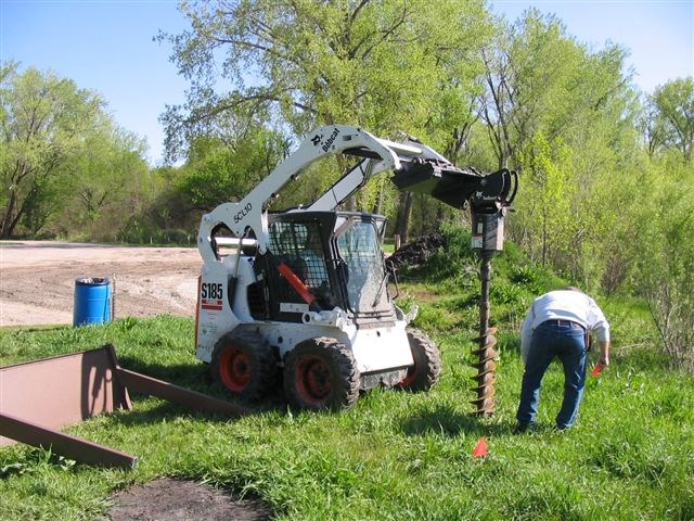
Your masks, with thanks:
[(0, 430), (17, 442), (51, 449), (70, 459), (100, 467), (134, 469), (138, 458), (95, 443), (70, 436), (30, 421), (0, 414)]

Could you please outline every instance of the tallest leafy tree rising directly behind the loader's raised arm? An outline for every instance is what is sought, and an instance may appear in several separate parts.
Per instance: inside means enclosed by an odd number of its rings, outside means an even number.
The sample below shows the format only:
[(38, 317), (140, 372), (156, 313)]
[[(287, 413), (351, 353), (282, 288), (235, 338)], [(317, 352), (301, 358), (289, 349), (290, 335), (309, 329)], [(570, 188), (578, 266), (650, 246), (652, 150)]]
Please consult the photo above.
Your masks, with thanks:
[[(426, 139), (454, 113), (452, 100), (462, 98), (453, 94), (476, 74), (462, 60), (490, 33), (480, 0), (230, 0), (183, 2), (181, 10), (192, 29), (160, 36), (193, 86), (187, 104), (163, 116), (170, 156), (230, 112), (273, 120), (297, 137), (342, 123)], [(333, 170), (345, 166), (338, 158)], [(383, 211), (396, 196), (374, 182), (348, 207)]]

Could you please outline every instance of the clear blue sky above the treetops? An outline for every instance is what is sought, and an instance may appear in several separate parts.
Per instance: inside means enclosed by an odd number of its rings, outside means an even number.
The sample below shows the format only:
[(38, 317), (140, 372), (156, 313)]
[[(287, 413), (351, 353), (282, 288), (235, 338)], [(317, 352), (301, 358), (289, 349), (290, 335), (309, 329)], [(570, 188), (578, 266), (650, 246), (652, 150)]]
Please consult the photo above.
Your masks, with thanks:
[[(435, 1), (435, 0), (432, 0)], [(529, 7), (555, 13), (567, 31), (593, 50), (606, 41), (630, 50), (642, 90), (694, 74), (694, 0), (490, 0), (515, 20)], [(0, 0), (0, 60), (51, 69), (99, 91), (121, 127), (147, 139), (160, 163), (158, 116), (184, 100), (187, 82), (170, 49), (152, 38), (188, 23), (171, 0)]]

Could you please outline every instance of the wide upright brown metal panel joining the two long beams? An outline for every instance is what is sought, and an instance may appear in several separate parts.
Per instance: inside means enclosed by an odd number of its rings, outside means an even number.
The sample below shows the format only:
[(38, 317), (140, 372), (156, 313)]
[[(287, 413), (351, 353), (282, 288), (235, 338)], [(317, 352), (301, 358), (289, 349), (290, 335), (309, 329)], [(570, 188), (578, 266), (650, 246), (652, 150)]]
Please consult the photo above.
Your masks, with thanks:
[[(105, 348), (2, 367), (0, 414), (61, 429), (114, 408), (130, 409), (113, 367)], [(0, 436), (0, 446), (9, 443)]]

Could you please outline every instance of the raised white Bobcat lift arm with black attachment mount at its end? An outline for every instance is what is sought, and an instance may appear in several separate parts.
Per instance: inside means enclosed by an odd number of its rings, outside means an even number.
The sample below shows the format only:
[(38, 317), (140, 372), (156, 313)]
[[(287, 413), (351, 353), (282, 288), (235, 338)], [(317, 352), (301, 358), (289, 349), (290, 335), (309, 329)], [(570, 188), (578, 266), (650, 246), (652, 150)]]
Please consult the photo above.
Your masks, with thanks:
[(203, 216), (197, 237), (203, 259), (216, 259), (213, 230), (219, 226), (229, 228), (240, 239), (246, 238), (252, 230), (258, 251), (265, 253), (268, 247), (268, 204), (310, 164), (335, 154), (360, 157), (361, 161), (304, 209), (335, 209), (371, 177), (387, 170), (394, 171), (393, 181), (400, 190), (427, 193), (457, 208), (464, 208), (470, 201), (477, 200), (509, 205), (515, 194), (509, 200), (511, 181), (502, 170), (483, 176), (474, 169), (455, 167), (413, 138), (398, 143), (376, 138), (361, 128), (330, 125), (312, 132), (241, 201), (220, 204)]

